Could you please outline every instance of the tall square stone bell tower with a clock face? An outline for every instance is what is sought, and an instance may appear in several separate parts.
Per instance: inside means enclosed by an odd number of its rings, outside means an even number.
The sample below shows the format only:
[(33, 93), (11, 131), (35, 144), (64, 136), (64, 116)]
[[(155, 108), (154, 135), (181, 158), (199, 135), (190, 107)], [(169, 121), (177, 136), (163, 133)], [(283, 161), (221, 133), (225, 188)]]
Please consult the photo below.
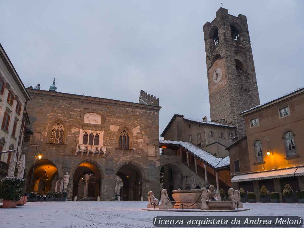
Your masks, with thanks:
[(247, 18), (220, 8), (204, 25), (211, 121), (238, 127), (246, 135), (239, 113), (260, 104)]

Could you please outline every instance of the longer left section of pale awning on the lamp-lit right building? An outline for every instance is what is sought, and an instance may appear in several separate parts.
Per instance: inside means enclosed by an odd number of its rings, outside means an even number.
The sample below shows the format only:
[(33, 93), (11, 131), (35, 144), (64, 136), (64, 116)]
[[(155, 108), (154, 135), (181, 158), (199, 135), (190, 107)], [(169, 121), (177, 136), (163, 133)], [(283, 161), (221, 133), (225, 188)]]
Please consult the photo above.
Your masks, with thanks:
[[(304, 167), (301, 167), (301, 168), (304, 168)], [(231, 179), (231, 182), (255, 181), (255, 180), (282, 178), (282, 177), (294, 177), (295, 171), (297, 169), (299, 169), (299, 168), (281, 169), (281, 170), (274, 170), (274, 171), (269, 171), (269, 172), (259, 172), (259, 173), (236, 175)], [(304, 175), (303, 172), (304, 172), (304, 169), (302, 170), (302, 174), (299, 174), (299, 175)]]

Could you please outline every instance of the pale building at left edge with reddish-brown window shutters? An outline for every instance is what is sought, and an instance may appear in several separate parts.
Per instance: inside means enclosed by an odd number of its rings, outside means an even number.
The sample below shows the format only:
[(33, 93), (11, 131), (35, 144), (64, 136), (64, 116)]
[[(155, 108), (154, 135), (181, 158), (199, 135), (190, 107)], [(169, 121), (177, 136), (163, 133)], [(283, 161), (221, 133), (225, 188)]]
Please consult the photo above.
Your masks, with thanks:
[(13, 152), (0, 154), (0, 178), (7, 176), (10, 165), (18, 167), (26, 124), (29, 124), (26, 113), (29, 100), (29, 93), (0, 44), (0, 151), (16, 150), (15, 162)]

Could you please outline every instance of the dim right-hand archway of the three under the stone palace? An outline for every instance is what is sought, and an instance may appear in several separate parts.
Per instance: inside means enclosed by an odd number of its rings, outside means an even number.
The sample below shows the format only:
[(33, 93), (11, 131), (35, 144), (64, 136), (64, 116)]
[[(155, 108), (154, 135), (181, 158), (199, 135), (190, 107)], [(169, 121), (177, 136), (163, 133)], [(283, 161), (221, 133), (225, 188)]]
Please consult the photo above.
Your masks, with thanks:
[(144, 177), (139, 166), (127, 163), (119, 168), (116, 175), (123, 181), (123, 186), (119, 190), (121, 200), (140, 201), (143, 195), (142, 181)]

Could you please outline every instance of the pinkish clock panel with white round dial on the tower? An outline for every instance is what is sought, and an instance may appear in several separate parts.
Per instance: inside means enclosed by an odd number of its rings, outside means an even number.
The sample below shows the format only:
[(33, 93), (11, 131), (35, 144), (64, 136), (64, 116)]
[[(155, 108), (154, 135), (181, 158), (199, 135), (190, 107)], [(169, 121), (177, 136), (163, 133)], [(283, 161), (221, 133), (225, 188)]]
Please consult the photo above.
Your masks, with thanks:
[(210, 79), (210, 93), (214, 93), (227, 83), (225, 59), (217, 59), (208, 71)]

